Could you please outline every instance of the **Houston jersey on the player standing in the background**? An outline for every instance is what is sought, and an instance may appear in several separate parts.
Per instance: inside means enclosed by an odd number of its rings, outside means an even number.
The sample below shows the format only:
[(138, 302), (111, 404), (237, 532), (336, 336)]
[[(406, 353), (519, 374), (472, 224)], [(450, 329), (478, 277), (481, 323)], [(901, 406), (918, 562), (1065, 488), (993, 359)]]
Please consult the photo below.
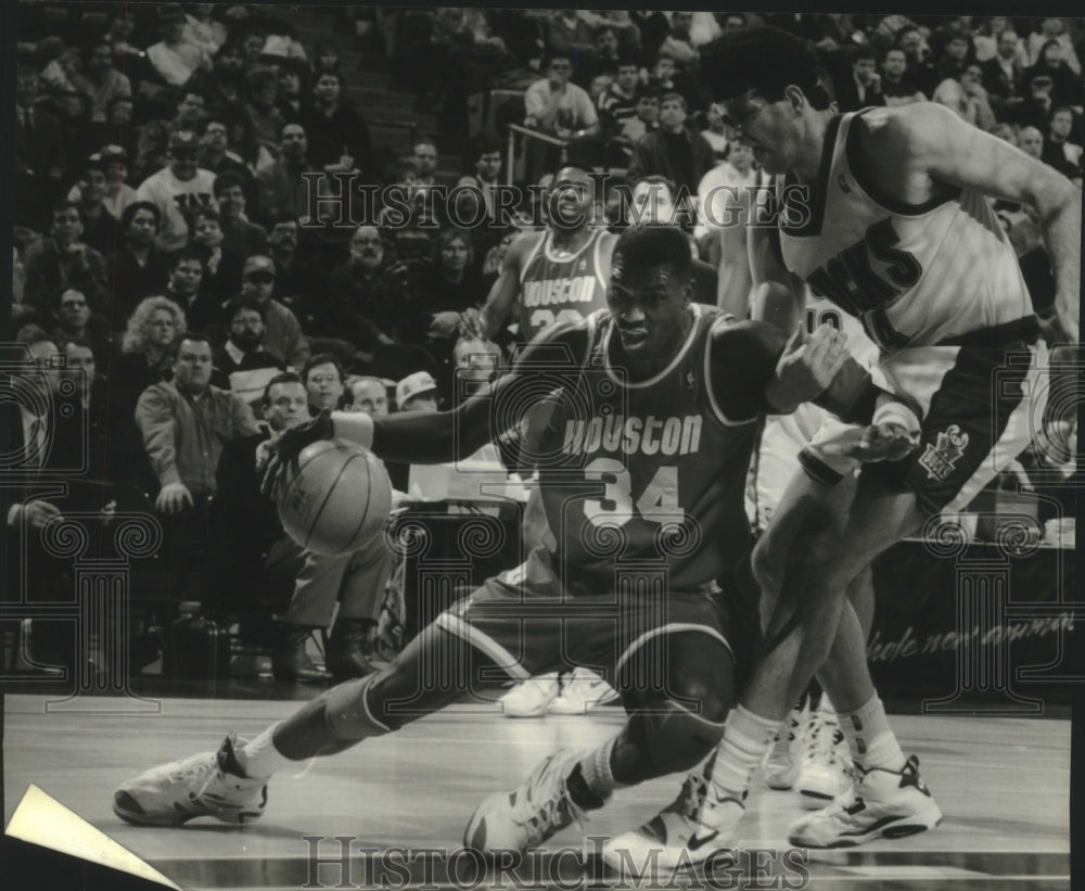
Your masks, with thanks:
[(591, 237), (575, 254), (553, 246), (547, 230), (527, 257), (520, 273), (520, 336), (529, 341), (556, 321), (580, 321), (607, 308), (600, 245), (605, 229)]

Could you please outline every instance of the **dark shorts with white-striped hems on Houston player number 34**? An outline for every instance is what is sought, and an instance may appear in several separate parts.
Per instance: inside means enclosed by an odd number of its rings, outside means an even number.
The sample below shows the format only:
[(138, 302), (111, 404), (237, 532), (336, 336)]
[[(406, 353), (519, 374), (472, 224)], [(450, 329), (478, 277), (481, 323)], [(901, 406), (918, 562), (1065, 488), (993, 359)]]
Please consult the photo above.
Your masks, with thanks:
[(678, 632), (706, 634), (730, 652), (715, 585), (685, 591), (637, 587), (643, 589), (572, 594), (551, 555), (536, 548), (523, 564), (488, 578), (434, 624), (486, 653), (515, 679), (583, 666), (616, 686), (639, 649)]

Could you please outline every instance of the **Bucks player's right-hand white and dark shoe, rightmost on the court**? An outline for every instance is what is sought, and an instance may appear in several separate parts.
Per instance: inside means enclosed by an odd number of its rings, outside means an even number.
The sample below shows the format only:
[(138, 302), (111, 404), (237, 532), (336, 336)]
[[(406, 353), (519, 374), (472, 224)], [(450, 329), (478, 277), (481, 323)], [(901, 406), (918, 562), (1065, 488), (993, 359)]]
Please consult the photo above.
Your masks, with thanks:
[(942, 822), (942, 811), (919, 776), (919, 759), (901, 771), (856, 765), (852, 788), (828, 807), (800, 817), (788, 841), (800, 848), (852, 848), (877, 838), (897, 839)]

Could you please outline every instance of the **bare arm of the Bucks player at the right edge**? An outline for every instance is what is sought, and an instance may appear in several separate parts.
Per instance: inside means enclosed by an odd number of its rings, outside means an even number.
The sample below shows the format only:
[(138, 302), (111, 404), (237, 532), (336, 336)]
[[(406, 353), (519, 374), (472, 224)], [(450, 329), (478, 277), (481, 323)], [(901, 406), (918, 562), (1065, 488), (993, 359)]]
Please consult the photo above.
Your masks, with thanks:
[(948, 183), (1036, 209), (1055, 270), (1059, 322), (1077, 343), (1082, 198), (1073, 183), (942, 105), (878, 110), (859, 120), (864, 155), (879, 182), (895, 183), (895, 196), (915, 201), (916, 190)]

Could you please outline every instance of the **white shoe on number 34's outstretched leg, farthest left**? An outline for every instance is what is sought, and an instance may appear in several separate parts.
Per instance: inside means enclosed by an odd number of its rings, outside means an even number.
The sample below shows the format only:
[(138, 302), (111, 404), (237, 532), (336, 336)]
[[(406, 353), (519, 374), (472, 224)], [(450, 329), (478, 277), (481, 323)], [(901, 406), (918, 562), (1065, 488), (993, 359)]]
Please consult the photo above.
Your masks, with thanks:
[(193, 817), (224, 823), (252, 823), (267, 804), (267, 779), (246, 777), (234, 749), (235, 735), (217, 752), (174, 761), (120, 785), (113, 793), (113, 813), (137, 826), (180, 826)]

